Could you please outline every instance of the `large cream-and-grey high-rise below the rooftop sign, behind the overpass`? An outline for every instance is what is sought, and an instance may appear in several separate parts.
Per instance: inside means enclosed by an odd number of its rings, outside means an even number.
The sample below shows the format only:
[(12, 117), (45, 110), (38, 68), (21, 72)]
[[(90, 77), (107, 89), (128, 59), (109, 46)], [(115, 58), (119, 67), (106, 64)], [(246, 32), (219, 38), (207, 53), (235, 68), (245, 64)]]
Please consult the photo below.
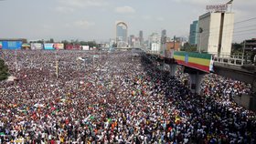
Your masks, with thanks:
[(230, 55), (234, 13), (208, 12), (199, 16), (197, 51)]

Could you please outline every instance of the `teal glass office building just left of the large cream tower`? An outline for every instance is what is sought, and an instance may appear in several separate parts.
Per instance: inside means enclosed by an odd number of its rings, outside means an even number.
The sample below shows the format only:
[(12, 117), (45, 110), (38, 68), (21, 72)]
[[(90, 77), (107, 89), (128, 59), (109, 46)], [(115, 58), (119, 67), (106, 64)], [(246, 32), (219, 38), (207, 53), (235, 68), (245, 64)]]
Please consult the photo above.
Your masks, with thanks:
[(192, 24), (190, 24), (190, 31), (189, 31), (189, 44), (190, 45), (197, 45), (197, 36), (198, 36), (199, 30), (198, 30), (198, 21), (194, 21)]

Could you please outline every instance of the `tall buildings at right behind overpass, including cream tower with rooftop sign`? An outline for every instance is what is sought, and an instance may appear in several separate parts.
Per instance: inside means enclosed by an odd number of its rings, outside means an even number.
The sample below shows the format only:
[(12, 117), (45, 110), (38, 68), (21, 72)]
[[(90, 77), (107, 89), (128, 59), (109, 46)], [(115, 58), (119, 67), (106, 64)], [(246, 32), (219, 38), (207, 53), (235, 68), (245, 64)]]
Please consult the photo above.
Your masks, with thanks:
[[(230, 56), (234, 32), (234, 13), (228, 11), (232, 1), (223, 5), (207, 5), (208, 13), (190, 25), (189, 41), (197, 52)], [(244, 50), (253, 51), (256, 39), (244, 40)], [(255, 48), (256, 50), (256, 48)]]

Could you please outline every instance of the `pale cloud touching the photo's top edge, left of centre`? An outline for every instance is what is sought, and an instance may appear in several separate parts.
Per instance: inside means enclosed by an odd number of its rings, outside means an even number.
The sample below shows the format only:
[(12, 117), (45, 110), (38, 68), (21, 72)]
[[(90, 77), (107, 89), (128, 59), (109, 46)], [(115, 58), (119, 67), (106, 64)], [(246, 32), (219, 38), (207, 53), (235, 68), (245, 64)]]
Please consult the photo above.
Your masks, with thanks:
[(102, 0), (58, 0), (61, 5), (69, 5), (72, 7), (86, 7), (86, 6), (103, 6), (107, 3)]

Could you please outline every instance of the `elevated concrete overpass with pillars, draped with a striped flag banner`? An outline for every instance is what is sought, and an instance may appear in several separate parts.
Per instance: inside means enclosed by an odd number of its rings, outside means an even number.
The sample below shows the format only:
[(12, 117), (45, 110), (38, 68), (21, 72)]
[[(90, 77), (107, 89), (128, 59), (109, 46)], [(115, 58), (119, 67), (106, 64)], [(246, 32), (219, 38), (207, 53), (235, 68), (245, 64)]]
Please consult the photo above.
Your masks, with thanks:
[[(146, 55), (164, 66), (168, 65), (171, 75), (175, 75), (176, 65), (184, 66), (184, 72), (189, 74), (192, 92), (199, 93), (202, 77), (208, 73), (229, 77), (251, 84), (250, 100), (244, 107), (256, 110), (256, 66), (255, 62), (238, 56), (215, 56), (189, 52), (175, 52), (174, 57), (161, 57), (159, 53), (145, 51)], [(205, 59), (204, 59), (205, 57)], [(210, 57), (210, 58), (209, 58)], [(194, 62), (194, 64), (193, 64)], [(191, 64), (190, 64), (191, 63)], [(208, 66), (208, 67), (207, 67)], [(252, 99), (251, 99), (252, 98)], [(241, 101), (241, 98), (240, 98)], [(250, 104), (249, 104), (250, 103)]]

